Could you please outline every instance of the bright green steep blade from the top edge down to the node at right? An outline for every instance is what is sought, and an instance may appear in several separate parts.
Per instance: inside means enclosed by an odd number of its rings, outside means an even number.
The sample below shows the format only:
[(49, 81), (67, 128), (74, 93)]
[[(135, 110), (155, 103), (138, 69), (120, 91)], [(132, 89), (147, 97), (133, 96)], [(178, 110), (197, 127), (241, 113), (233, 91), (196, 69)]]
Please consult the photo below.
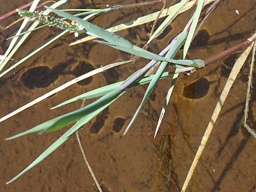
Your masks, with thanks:
[(192, 24), (191, 24), (191, 27), (190, 27), (190, 30), (189, 30), (189, 34), (188, 34), (188, 37), (187, 37), (186, 42), (184, 44), (183, 59), (185, 59), (186, 54), (189, 50), (189, 46), (191, 44), (193, 35), (195, 33), (195, 28), (197, 26), (198, 19), (200, 17), (200, 13), (201, 13), (201, 10), (203, 8), (203, 5), (204, 5), (204, 0), (198, 0), (198, 5), (197, 5), (196, 10), (195, 10), (195, 15), (194, 15), (194, 18), (193, 18), (193, 21), (192, 21)]

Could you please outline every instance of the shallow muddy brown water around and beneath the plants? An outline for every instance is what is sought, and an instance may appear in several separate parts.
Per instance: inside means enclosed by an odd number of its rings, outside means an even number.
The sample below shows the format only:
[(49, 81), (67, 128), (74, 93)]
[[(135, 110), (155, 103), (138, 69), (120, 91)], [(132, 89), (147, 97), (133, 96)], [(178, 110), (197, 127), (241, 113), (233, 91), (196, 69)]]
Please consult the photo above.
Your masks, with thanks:
[[(136, 3), (135, 0), (125, 4)], [(27, 1), (6, 1), (0, 15)], [(65, 8), (103, 8), (124, 1), (72, 0)], [(168, 1), (170, 6), (171, 1)], [(93, 22), (102, 27), (114, 26), (161, 9), (162, 4), (123, 9), (96, 17)], [(256, 27), (256, 1), (225, 0), (212, 12), (192, 43), (189, 58), (207, 58), (247, 39)], [(239, 15), (236, 13), (239, 11)], [(159, 52), (174, 35), (183, 29), (190, 11), (178, 16), (149, 47)], [(16, 20), (11, 16), (1, 21), (7, 26)], [(152, 23), (117, 32), (134, 44), (142, 46)], [(4, 38), (15, 33), (18, 26), (1, 32), (1, 48), (7, 49)], [(47, 42), (60, 30), (45, 28), (34, 32), (15, 54), (18, 60)], [(131, 58), (115, 49), (88, 42), (68, 47), (75, 37), (64, 35), (41, 50), (20, 67), (0, 79), (0, 116), (25, 105), (49, 90), (96, 69), (101, 65)], [(146, 85), (128, 90), (109, 108), (79, 131), (90, 166), (104, 192), (178, 192), (201, 142), (221, 90), (240, 52), (211, 64), (175, 85), (171, 102), (156, 139), (153, 131), (164, 102), (171, 78), (164, 79), (150, 96), (140, 116), (125, 137), (123, 131), (136, 111)], [(241, 70), (224, 108), (216, 122), (209, 142), (189, 183), (188, 192), (255, 192), (256, 140), (242, 126), (247, 74), (250, 58)], [(128, 77), (143, 67), (146, 59), (113, 68), (81, 81), (39, 102), (0, 123), (0, 191), (2, 192), (94, 192), (98, 191), (84, 164), (75, 137), (71, 137), (43, 162), (15, 182), (6, 181), (26, 168), (67, 128), (50, 134), (29, 134), (5, 141), (6, 137), (25, 131), (39, 123), (76, 110), (81, 102), (49, 110), (50, 107), (97, 87)], [(172, 70), (172, 69), (169, 69)], [(254, 76), (253, 83), (256, 84)], [(88, 100), (85, 104), (90, 103)], [(252, 91), (249, 122), (255, 125), (256, 94)], [(254, 126), (255, 127), (255, 126)]]

